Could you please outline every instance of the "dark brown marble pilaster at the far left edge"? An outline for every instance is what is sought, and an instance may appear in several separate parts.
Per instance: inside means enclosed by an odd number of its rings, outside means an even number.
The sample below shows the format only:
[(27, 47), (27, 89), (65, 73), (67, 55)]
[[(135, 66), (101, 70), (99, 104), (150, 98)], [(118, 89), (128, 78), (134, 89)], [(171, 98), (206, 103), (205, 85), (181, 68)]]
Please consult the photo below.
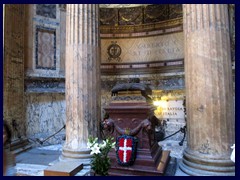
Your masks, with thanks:
[[(12, 141), (25, 136), (24, 13), (25, 5), (4, 6), (3, 115)], [(14, 23), (13, 23), (14, 22)]]

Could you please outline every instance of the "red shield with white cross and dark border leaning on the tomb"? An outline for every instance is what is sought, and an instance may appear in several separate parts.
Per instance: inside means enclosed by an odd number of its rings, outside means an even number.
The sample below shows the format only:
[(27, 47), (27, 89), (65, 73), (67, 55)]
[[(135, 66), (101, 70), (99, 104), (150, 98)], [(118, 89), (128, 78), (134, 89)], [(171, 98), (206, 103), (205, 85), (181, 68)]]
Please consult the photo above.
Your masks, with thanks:
[(120, 165), (131, 165), (136, 157), (136, 138), (122, 135), (117, 138), (117, 160)]

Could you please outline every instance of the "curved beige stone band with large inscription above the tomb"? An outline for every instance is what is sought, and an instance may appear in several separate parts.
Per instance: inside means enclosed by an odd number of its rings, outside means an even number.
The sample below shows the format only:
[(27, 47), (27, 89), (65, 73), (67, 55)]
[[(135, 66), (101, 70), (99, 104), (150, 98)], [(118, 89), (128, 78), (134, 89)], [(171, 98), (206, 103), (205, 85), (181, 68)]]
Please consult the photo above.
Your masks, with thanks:
[(184, 57), (183, 33), (162, 36), (124, 39), (102, 39), (102, 63), (108, 63), (107, 49), (112, 41), (122, 48), (121, 63), (137, 63), (182, 59)]

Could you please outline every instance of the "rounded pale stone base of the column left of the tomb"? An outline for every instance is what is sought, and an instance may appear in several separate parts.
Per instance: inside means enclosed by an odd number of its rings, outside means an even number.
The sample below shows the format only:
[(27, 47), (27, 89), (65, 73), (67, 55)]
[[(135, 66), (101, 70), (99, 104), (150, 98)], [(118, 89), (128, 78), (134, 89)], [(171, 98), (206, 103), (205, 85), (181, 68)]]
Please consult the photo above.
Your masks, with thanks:
[(90, 150), (72, 151), (63, 149), (60, 161), (80, 161), (84, 166), (90, 165), (92, 155)]

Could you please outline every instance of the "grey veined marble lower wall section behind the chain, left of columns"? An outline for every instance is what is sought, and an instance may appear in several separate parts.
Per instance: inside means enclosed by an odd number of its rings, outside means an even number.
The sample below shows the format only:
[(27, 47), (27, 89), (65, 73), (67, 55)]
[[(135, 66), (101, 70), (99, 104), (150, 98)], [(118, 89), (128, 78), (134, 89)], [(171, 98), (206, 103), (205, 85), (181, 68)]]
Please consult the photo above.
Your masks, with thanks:
[[(60, 130), (66, 122), (65, 95), (59, 93), (28, 93), (26, 104), (26, 134), (38, 144)], [(59, 144), (63, 142), (65, 130), (50, 138), (45, 144)]]

